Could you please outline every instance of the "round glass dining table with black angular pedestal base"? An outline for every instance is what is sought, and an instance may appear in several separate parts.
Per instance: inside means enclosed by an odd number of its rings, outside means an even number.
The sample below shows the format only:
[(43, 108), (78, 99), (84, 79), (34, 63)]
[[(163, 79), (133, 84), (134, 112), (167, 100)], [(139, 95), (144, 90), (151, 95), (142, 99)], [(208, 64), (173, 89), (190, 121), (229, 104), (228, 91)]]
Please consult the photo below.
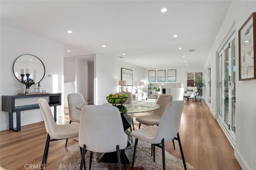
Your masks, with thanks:
[[(102, 101), (96, 101), (96, 102), (85, 102), (82, 104), (78, 104), (76, 106), (77, 109), (82, 110), (82, 107), (86, 105), (104, 105), (104, 106), (112, 106), (112, 104), (106, 102), (106, 100)], [(132, 161), (132, 148), (129, 147), (132, 143), (132, 137), (130, 136), (130, 131), (128, 129), (131, 126), (132, 123), (132, 117), (129, 116), (129, 113), (140, 113), (140, 112), (147, 112), (147, 111), (153, 111), (160, 108), (160, 105), (156, 104), (155, 102), (147, 102), (147, 101), (133, 101), (132, 104), (123, 104), (123, 106), (126, 107), (127, 112), (126, 113), (120, 113), (122, 117), (122, 123), (124, 126), (124, 133), (128, 135), (128, 143), (127, 147), (125, 149), (125, 155), (126, 155), (126, 163), (131, 163)], [(121, 156), (122, 157), (122, 156)], [(121, 162), (123, 162), (121, 158)], [(117, 163), (117, 157), (116, 152), (110, 152), (110, 153), (103, 153), (102, 156), (100, 156), (100, 159), (98, 162), (109, 162), (109, 163)]]

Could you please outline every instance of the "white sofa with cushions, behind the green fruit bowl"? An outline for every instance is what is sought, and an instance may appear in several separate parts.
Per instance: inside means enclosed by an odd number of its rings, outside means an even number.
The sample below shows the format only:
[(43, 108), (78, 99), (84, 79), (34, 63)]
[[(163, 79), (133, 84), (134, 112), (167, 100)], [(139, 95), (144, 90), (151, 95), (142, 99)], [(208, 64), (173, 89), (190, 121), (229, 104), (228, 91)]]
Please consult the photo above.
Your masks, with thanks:
[(144, 89), (138, 86), (124, 86), (124, 92), (131, 92), (132, 100), (135, 101), (148, 99), (148, 93), (144, 92)]

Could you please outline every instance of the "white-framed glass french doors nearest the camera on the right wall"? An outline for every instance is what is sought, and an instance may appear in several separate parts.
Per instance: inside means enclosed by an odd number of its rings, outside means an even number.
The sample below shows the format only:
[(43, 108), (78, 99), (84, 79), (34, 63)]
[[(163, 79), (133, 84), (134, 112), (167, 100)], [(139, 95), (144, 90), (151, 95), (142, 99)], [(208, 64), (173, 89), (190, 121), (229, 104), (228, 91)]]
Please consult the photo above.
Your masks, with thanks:
[(236, 43), (233, 34), (218, 53), (218, 119), (236, 141)]

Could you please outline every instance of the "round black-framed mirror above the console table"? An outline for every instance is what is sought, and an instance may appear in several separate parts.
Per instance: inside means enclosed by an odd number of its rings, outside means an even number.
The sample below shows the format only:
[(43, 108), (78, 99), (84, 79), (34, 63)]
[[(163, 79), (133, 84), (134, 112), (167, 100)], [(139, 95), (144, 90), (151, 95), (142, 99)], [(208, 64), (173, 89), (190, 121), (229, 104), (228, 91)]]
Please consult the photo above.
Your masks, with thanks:
[(26, 71), (29, 72), (29, 78), (32, 78), (37, 84), (40, 82), (45, 75), (44, 63), (36, 56), (31, 54), (24, 54), (19, 56), (13, 63), (12, 66), (14, 76), (21, 82), (21, 74), (24, 75), (26, 80)]

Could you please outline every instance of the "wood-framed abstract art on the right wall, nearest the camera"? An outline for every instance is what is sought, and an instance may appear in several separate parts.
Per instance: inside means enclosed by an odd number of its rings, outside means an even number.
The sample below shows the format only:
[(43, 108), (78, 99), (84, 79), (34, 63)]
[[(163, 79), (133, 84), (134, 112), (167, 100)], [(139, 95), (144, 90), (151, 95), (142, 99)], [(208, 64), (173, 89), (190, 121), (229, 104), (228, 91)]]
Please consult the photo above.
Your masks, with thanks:
[(256, 12), (238, 30), (239, 81), (256, 79)]

